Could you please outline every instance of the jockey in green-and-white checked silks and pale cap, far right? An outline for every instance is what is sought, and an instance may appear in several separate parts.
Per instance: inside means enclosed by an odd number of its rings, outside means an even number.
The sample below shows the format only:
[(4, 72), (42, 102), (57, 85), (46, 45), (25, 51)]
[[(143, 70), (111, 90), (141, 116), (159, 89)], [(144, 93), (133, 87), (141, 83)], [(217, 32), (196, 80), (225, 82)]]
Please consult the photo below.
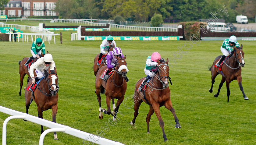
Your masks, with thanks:
[(221, 62), (231, 53), (234, 46), (240, 47), (239, 43), (236, 41), (236, 36), (232, 35), (229, 39), (225, 39), (220, 47), (220, 51), (223, 53), (220, 60), (216, 63), (217, 67), (220, 67)]

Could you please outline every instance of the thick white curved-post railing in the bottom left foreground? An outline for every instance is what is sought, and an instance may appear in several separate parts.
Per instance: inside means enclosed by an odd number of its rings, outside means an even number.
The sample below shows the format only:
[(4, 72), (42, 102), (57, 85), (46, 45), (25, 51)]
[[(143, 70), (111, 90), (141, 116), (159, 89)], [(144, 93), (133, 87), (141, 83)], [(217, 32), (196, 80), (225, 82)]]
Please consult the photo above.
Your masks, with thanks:
[(59, 123), (51, 122), (51, 121), (48, 121), (48, 120), (45, 120), (45, 119), (42, 119), (42, 118), (38, 118), (38, 117), (35, 117), (35, 116), (32, 116), (32, 115), (22, 113), (22, 112), (19, 112), (19, 111), (15, 111), (15, 110), (5, 108), (5, 107), (2, 107), (2, 106), (0, 106), (0, 111), (5, 113), (5, 114), (12, 115), (12, 116), (6, 118), (4, 123), (3, 123), (2, 145), (6, 145), (6, 126), (7, 126), (7, 122), (10, 119), (14, 119), (14, 118), (22, 118), (24, 120), (34, 122), (36, 124), (39, 124), (39, 125), (50, 128), (50, 129), (45, 130), (44, 133), (41, 134), (40, 140), (39, 140), (39, 145), (43, 145), (44, 136), (49, 132), (63, 132), (63, 133), (66, 133), (66, 134), (69, 134), (69, 135), (72, 135), (72, 136), (76, 136), (80, 139), (87, 140), (89, 142), (100, 144), (100, 145), (101, 144), (102, 145), (123, 145), (122, 143), (119, 143), (119, 142), (116, 142), (116, 141), (108, 140), (108, 139), (105, 139), (105, 138), (102, 138), (102, 137), (100, 138), (100, 137), (95, 136), (93, 134), (86, 133), (86, 132), (83, 132), (83, 131), (78, 130), (78, 129), (74, 129), (74, 128), (71, 128), (69, 126), (64, 126), (64, 125), (59, 124)]

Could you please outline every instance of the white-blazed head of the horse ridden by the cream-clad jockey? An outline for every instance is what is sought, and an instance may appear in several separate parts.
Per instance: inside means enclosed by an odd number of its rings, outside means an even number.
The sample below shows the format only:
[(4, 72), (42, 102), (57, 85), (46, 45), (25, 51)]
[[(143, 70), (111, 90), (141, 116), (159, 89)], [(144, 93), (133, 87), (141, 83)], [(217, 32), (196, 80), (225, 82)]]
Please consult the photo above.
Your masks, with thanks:
[(47, 80), (48, 88), (51, 91), (52, 96), (56, 96), (59, 91), (59, 81), (56, 68), (54, 68), (54, 70), (50, 70), (49, 74), (48, 71), (44, 70), (44, 80), (45, 79)]

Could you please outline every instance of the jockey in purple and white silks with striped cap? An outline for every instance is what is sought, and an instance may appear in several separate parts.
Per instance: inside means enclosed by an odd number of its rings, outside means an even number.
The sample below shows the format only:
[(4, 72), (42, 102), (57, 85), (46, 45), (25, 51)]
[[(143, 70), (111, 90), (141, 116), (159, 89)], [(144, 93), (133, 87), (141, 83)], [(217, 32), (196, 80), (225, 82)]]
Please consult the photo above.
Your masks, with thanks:
[(115, 68), (115, 65), (117, 63), (117, 59), (115, 56), (117, 56), (119, 58), (124, 58), (121, 48), (115, 47), (113, 49), (113, 51), (108, 52), (108, 55), (106, 56), (108, 70), (107, 70), (105, 76), (103, 77), (103, 80), (105, 80), (105, 81), (107, 80), (106, 75), (108, 75), (108, 73), (111, 72)]

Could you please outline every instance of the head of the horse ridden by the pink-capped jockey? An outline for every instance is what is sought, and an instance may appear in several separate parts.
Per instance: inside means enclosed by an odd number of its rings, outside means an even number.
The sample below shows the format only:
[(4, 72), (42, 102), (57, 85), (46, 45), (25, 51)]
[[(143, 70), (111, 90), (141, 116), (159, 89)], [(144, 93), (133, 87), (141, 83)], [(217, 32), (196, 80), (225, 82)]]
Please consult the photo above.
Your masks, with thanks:
[(158, 59), (158, 79), (163, 84), (164, 88), (168, 87), (168, 79), (169, 79), (169, 65), (168, 65), (168, 58), (166, 59), (166, 62), (164, 59)]

